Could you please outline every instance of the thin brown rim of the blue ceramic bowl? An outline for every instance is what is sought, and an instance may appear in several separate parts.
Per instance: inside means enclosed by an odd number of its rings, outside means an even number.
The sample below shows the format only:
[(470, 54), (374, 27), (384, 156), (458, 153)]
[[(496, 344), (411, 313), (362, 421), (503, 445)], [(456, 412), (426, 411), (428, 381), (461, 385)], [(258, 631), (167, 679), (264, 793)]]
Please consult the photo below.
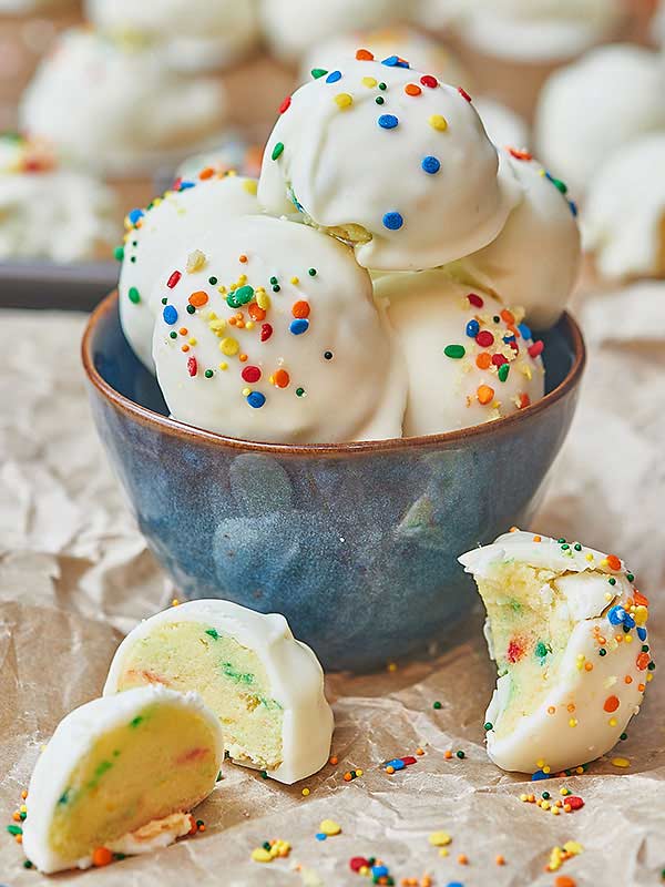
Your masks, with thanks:
[(100, 375), (92, 356), (92, 340), (100, 322), (115, 308), (119, 300), (117, 289), (113, 289), (99, 303), (91, 313), (83, 338), (81, 341), (81, 359), (88, 377), (88, 381), (96, 388), (103, 399), (111, 406), (130, 416), (133, 420), (143, 425), (156, 426), (164, 434), (171, 437), (187, 438), (192, 441), (205, 442), (213, 446), (238, 449), (243, 451), (254, 451), (279, 456), (339, 456), (344, 453), (376, 453), (391, 450), (410, 448), (437, 448), (450, 449), (470, 440), (482, 440), (492, 435), (508, 432), (514, 426), (529, 422), (539, 414), (548, 410), (556, 402), (565, 398), (580, 384), (584, 367), (586, 365), (586, 346), (575, 319), (567, 312), (562, 314), (560, 323), (563, 322), (567, 329), (569, 337), (573, 345), (573, 365), (563, 381), (556, 388), (540, 398), (529, 407), (512, 412), (501, 419), (495, 419), (482, 425), (473, 425), (469, 428), (460, 428), (454, 431), (444, 431), (439, 435), (421, 435), (419, 437), (398, 437), (385, 440), (358, 440), (340, 443), (269, 443), (258, 440), (243, 440), (242, 438), (226, 437), (215, 431), (206, 431), (193, 425), (186, 425), (168, 416), (162, 416), (147, 407), (136, 404), (129, 397), (121, 395)]

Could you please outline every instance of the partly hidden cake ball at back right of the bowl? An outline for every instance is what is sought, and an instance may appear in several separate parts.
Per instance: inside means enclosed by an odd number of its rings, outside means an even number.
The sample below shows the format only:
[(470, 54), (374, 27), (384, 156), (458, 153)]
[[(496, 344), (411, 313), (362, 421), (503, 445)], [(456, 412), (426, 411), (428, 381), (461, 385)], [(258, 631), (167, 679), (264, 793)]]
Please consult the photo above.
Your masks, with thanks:
[(497, 239), (459, 263), (460, 276), (519, 305), (530, 325), (548, 329), (561, 317), (580, 273), (577, 208), (566, 185), (531, 154), (504, 153), (524, 196)]

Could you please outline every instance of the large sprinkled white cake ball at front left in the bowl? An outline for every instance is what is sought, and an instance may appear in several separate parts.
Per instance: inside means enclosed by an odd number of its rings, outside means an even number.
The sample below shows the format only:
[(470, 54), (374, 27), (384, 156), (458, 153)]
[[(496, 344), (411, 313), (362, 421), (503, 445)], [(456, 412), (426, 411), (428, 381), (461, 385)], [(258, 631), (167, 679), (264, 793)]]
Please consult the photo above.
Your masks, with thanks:
[(176, 419), (285, 443), (401, 436), (401, 361), (339, 241), (245, 216), (194, 241), (160, 297), (153, 357)]

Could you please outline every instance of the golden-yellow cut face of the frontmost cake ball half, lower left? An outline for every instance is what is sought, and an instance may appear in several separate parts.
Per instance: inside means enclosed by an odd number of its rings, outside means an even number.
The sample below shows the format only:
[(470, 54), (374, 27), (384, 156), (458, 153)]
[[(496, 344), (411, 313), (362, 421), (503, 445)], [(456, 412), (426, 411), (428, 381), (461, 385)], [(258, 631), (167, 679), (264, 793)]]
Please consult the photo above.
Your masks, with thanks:
[(89, 856), (155, 819), (188, 812), (215, 785), (217, 738), (197, 712), (149, 704), (103, 733), (80, 758), (58, 801), (51, 849)]

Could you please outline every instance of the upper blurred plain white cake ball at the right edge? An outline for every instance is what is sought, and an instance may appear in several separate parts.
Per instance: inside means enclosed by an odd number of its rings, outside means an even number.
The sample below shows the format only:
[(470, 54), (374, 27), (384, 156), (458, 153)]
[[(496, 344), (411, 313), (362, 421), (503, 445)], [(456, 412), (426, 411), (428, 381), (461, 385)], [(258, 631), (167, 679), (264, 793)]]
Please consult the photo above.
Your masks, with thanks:
[(590, 52), (545, 84), (535, 122), (540, 156), (583, 193), (613, 151), (665, 128), (664, 89), (655, 52), (630, 44)]

